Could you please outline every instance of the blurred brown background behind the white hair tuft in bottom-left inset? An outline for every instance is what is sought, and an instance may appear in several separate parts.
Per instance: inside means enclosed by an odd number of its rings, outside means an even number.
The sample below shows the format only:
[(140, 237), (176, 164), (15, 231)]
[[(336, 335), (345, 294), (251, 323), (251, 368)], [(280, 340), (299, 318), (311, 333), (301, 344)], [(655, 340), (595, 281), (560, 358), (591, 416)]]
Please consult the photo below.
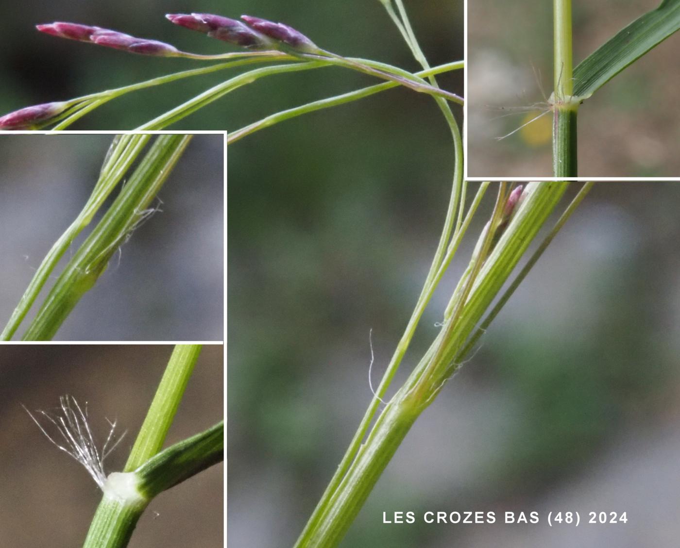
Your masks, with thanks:
[[(172, 345), (3, 345), (0, 347), (0, 545), (82, 545), (101, 499), (84, 468), (45, 438), (22, 409), (52, 410), (59, 396), (88, 403), (101, 443), (106, 419), (127, 434), (106, 461), (120, 470), (156, 392)], [(223, 415), (222, 346), (205, 345), (166, 446), (209, 428)], [(152, 500), (130, 548), (223, 545), (223, 465)]]

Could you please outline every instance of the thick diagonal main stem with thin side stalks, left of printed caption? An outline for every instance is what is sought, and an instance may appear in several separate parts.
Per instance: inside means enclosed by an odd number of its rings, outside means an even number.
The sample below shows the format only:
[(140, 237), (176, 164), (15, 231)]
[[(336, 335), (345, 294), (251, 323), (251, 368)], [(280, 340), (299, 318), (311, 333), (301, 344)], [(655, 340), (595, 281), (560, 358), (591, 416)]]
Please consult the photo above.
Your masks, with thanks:
[[(396, 4), (403, 21), (392, 10), (390, 0), (381, 0), (381, 3), (388, 9), (392, 20), (396, 22), (414, 56), (424, 67), (427, 67), (427, 61), (408, 23), (401, 0), (396, 0)], [(435, 82), (432, 83), (435, 84)], [(443, 112), (446, 116), (445, 109), (443, 109)], [(449, 120), (448, 116), (447, 120)], [(488, 183), (480, 185), (477, 196), (469, 207), (465, 220), (461, 223), (464, 205), (463, 192), (456, 231), (448, 245), (445, 258), (439, 263), (437, 274), (430, 282), (429, 291), (437, 285), (443, 271), (448, 267), (455, 250), (458, 248), (464, 228), (469, 224), (469, 220), (477, 209), (486, 186), (488, 186)], [(465, 186), (463, 186), (464, 188)], [(377, 402), (384, 396), (385, 389), (394, 375), (394, 359), (393, 362), (390, 362), (384, 379), (381, 381), (381, 387), (371, 401), (369, 410), (364, 415), (364, 419), (362, 419), (336, 474), (296, 542), (296, 548), (332, 548), (341, 541), (354, 516), (369, 496), (373, 485), (375, 485), (382, 470), (394, 455), (415, 419), (432, 403), (447, 379), (456, 371), (458, 364), (471, 351), (473, 345), (469, 341), (476, 341), (480, 335), (480, 330), (477, 330), (472, 337), (469, 337), (469, 335), (475, 323), (481, 318), (483, 309), (489, 305), (496, 292), (500, 290), (503, 281), (526, 250), (528, 242), (541, 224), (545, 222), (565, 188), (566, 184), (564, 183), (530, 184), (526, 189), (517, 187), (512, 192), (507, 193), (505, 184), (501, 184), (492, 218), (485, 230), (482, 231), (469, 267), (460, 284), (454, 290), (452, 301), (445, 311), (441, 332), (430, 349), (424, 354), (420, 364), (411, 373), (407, 382), (386, 405), (375, 426), (366, 437)], [(456, 177), (454, 176), (455, 189)], [(579, 196), (581, 196), (580, 193)], [(580, 201), (579, 197), (577, 197), (577, 200)], [(578, 203), (577, 200), (573, 204), (574, 207)], [(571, 211), (573, 211), (572, 206), (568, 208), (560, 222), (566, 220)], [(448, 218), (447, 215), (447, 221)], [(556, 226), (551, 235), (554, 235), (559, 226)], [(446, 230), (443, 231), (444, 234), (446, 234)], [(526, 275), (526, 271), (523, 270), (518, 279), (521, 279), (524, 275)], [(430, 279), (429, 275), (428, 279)], [(426, 288), (428, 288), (427, 284)], [(420, 304), (419, 301), (418, 305), (420, 306)], [(414, 317), (415, 324), (418, 323), (420, 316), (414, 314), (409, 321), (409, 328)], [(485, 322), (490, 322), (492, 319), (493, 317), (488, 317)], [(485, 323), (483, 322), (483, 324)], [(485, 325), (488, 326), (488, 323)], [(466, 339), (469, 339), (468, 343), (465, 343)], [(400, 341), (395, 356), (403, 356), (409, 340), (407, 338)], [(400, 360), (401, 358), (398, 358), (396, 364)]]

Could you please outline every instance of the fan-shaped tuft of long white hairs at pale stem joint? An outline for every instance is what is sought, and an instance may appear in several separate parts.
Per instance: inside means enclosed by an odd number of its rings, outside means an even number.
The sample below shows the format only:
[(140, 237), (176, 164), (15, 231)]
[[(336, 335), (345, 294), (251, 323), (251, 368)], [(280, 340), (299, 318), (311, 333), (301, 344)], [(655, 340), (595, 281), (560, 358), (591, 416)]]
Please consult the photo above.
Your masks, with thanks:
[[(37, 410), (41, 418), (45, 419), (47, 428), (56, 428), (58, 435), (51, 436), (48, 434), (46, 428), (40, 424), (38, 419), (33, 416), (33, 413), (25, 409), (33, 422), (37, 424), (40, 431), (45, 434), (46, 438), (50, 440), (56, 447), (67, 453), (71, 458), (77, 460), (88, 471), (88, 474), (95, 480), (100, 489), (103, 489), (106, 481), (106, 474), (104, 472), (104, 460), (116, 449), (116, 446), (122, 441), (125, 432), (116, 439), (114, 432), (116, 430), (116, 421), (109, 423), (109, 434), (106, 441), (103, 443), (101, 449), (97, 449), (92, 430), (88, 424), (87, 403), (85, 410), (78, 405), (78, 402), (73, 396), (61, 396), (59, 398), (60, 407), (54, 414), (47, 413), (41, 409)], [(52, 425), (52, 426), (50, 426)], [(55, 439), (56, 438), (56, 439)]]

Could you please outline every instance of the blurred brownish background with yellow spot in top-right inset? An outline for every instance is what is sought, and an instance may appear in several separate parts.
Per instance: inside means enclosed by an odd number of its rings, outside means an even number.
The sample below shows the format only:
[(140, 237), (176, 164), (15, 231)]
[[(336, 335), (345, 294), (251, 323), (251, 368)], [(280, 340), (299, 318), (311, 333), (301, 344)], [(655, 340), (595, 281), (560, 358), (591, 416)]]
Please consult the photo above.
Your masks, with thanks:
[[(660, 0), (573, 3), (574, 66)], [(552, 3), (476, 0), (468, 24), (468, 175), (549, 177), (552, 114), (521, 131), (553, 90)], [(579, 108), (579, 175), (675, 177), (680, 139), (673, 35)], [(544, 105), (540, 105), (543, 107)]]

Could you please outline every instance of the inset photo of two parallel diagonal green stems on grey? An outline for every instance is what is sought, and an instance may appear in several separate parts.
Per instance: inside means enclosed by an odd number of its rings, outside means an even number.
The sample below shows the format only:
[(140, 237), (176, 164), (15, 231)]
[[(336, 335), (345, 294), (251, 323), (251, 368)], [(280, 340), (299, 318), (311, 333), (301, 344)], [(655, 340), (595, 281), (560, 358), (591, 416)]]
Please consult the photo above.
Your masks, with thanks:
[(224, 135), (0, 135), (2, 340), (222, 341)]

